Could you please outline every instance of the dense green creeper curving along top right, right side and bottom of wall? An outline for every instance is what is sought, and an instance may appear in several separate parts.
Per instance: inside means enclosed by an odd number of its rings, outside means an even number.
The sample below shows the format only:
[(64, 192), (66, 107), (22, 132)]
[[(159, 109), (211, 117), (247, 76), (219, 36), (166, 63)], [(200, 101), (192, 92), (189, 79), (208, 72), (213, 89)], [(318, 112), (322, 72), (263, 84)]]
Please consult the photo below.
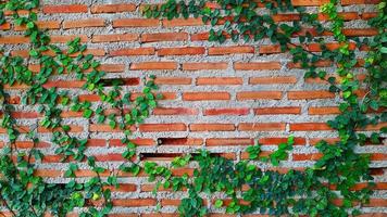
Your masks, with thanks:
[[(341, 97), (340, 114), (327, 124), (338, 131), (339, 141), (330, 144), (321, 141), (316, 149), (322, 157), (313, 167), (304, 171), (290, 169), (285, 174), (263, 170), (257, 166), (257, 161), (271, 159), (277, 166), (280, 159), (287, 157), (291, 150), (292, 139), (280, 144), (270, 157), (260, 157), (260, 146), (249, 146), (249, 159), (234, 164), (233, 161), (212, 156), (203, 151), (192, 159), (199, 163), (194, 177), (171, 177), (163, 180), (164, 187), (173, 184), (188, 189), (188, 197), (182, 201), (178, 210), (182, 216), (204, 216), (208, 206), (204, 205), (202, 193), (214, 204), (214, 207), (226, 207), (227, 213), (246, 214), (259, 212), (270, 215), (310, 215), (310, 216), (348, 216), (360, 214), (359, 207), (369, 203), (372, 193), (373, 177), (370, 175), (370, 156), (353, 151), (357, 145), (365, 142), (379, 143), (380, 132), (366, 135), (359, 132), (370, 125), (386, 122), (386, 78), (387, 78), (387, 35), (386, 35), (386, 2), (378, 4), (378, 14), (369, 24), (377, 29), (377, 36), (360, 39), (347, 37), (344, 34), (344, 18), (338, 11), (338, 1), (332, 0), (320, 8), (327, 15), (329, 26), (325, 27), (317, 21), (317, 14), (309, 13), (302, 7), (291, 5), (287, 1), (175, 1), (168, 0), (161, 5), (149, 5), (143, 15), (153, 18), (188, 18), (201, 17), (203, 24), (213, 28), (209, 33), (210, 41), (235, 42), (258, 41), (269, 38), (279, 44), (282, 52), (289, 52), (292, 62), (301, 66), (305, 78), (320, 78), (329, 84), (329, 91)], [(258, 13), (259, 8), (265, 8), (267, 14)], [(297, 13), (298, 17), (291, 24), (278, 24), (273, 18), (279, 12)], [(310, 27), (310, 28), (308, 28)], [(311, 28), (313, 27), (313, 28)], [(332, 35), (337, 48), (329, 48), (324, 36)], [(292, 40), (298, 38), (298, 43)], [(309, 50), (309, 43), (317, 43), (321, 52)], [(351, 44), (355, 44), (352, 49)], [(357, 52), (362, 46), (369, 47), (364, 63), (357, 59)], [(320, 63), (328, 62), (336, 68), (336, 75), (329, 75), (319, 67)], [(366, 69), (364, 81), (358, 79), (355, 67), (362, 64)], [(184, 161), (187, 164), (188, 161)], [(146, 170), (154, 179), (171, 174), (166, 167), (160, 169), (154, 163)], [(159, 181), (160, 182), (160, 181)], [(162, 181), (161, 181), (162, 182)], [(359, 182), (367, 186), (353, 190)], [(160, 186), (157, 184), (157, 188)], [(336, 190), (336, 192), (334, 191)], [(214, 192), (222, 192), (225, 200), (213, 200)], [(337, 200), (341, 199), (341, 203)], [(225, 201), (228, 200), (228, 203)]]

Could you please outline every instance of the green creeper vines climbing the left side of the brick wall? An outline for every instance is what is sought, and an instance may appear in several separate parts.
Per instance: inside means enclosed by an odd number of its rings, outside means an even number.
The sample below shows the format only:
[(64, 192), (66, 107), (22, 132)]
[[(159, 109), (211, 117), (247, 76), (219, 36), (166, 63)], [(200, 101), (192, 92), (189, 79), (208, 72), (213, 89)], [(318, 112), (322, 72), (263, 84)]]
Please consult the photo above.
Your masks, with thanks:
[[(82, 208), (80, 216), (105, 216), (112, 208), (111, 188), (117, 188), (117, 173), (109, 171), (96, 163), (96, 157), (86, 154), (87, 137), (76, 137), (72, 126), (64, 124), (64, 111), (80, 112), (89, 123), (109, 124), (111, 128), (124, 131), (121, 140), (127, 150), (122, 154), (127, 163), (120, 166), (122, 171), (137, 175), (138, 163), (132, 162), (136, 155), (136, 145), (129, 140), (130, 126), (142, 123), (157, 106), (154, 77), (150, 76), (143, 85), (142, 94), (133, 101), (130, 92), (122, 88), (120, 79), (104, 79), (105, 73), (100, 68), (100, 62), (92, 54), (86, 54), (86, 44), (75, 38), (66, 43), (63, 51), (51, 43), (47, 30), (37, 26), (37, 14), (34, 9), (39, 7), (38, 0), (10, 0), (0, 3), (0, 24), (13, 22), (24, 26), (24, 36), (29, 38), (29, 55), (27, 60), (2, 51), (0, 61), (0, 99), (1, 127), (9, 136), (8, 144), (2, 149), (0, 159), (0, 201), (12, 216), (66, 216), (74, 208)], [(27, 15), (20, 15), (20, 10), (27, 10)], [(12, 12), (10, 21), (4, 12)], [(29, 69), (30, 63), (39, 65), (38, 72)], [(74, 92), (48, 88), (46, 84), (54, 75), (73, 76), (84, 80), (83, 89), (97, 94), (101, 103), (97, 107), (87, 100), (80, 100)], [(14, 118), (15, 111), (7, 88), (10, 86), (26, 86), (21, 102), (24, 105), (37, 106), (41, 116), (32, 127), (24, 127)], [(159, 95), (160, 97), (160, 95)], [(108, 113), (114, 110), (114, 113)], [(41, 151), (36, 149), (40, 143), (39, 128), (52, 131), (51, 142), (55, 144), (54, 154), (61, 156), (61, 162), (67, 163), (64, 177), (66, 183), (51, 183), (37, 175), (39, 163), (45, 159)], [(18, 149), (18, 139), (29, 139), (30, 149)], [(95, 177), (85, 182), (77, 181), (78, 163), (86, 162)], [(109, 173), (108, 178), (102, 175)], [(99, 207), (99, 208), (96, 208)]]

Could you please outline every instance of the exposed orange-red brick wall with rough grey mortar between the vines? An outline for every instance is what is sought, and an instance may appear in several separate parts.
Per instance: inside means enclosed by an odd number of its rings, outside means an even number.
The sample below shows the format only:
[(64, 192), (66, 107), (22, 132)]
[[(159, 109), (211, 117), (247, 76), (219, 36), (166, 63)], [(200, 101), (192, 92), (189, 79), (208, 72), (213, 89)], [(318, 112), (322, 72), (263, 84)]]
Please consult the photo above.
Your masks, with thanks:
[[(52, 41), (63, 43), (80, 37), (89, 46), (88, 53), (103, 63), (101, 69), (109, 78), (124, 78), (127, 91), (139, 91), (147, 75), (155, 75), (164, 99), (146, 124), (135, 130), (134, 141), (142, 161), (166, 164), (174, 156), (205, 148), (214, 153), (233, 158), (246, 158), (245, 149), (254, 141), (263, 144), (269, 153), (289, 135), (295, 135), (296, 145), (280, 169), (302, 168), (313, 165), (320, 157), (314, 144), (320, 139), (334, 141), (337, 137), (325, 124), (337, 113), (339, 95), (327, 91), (327, 85), (317, 79), (304, 79), (304, 72), (289, 63), (290, 55), (280, 53), (269, 40), (250, 43), (224, 44), (207, 40), (209, 25), (199, 18), (159, 21), (147, 20), (140, 14), (141, 5), (157, 1), (138, 0), (45, 0), (39, 11), (39, 26), (49, 28)], [(309, 5), (316, 12), (325, 0), (294, 0), (295, 5)], [(342, 0), (346, 35), (369, 37), (376, 34), (366, 20), (375, 15), (375, 0)], [(277, 22), (297, 20), (294, 14), (280, 14)], [(326, 16), (320, 15), (325, 21)], [(0, 43), (12, 53), (26, 56), (28, 39), (21, 35), (23, 27), (4, 24)], [(337, 44), (332, 43), (333, 48)], [(311, 49), (319, 51), (315, 44)], [(361, 56), (362, 53), (360, 53)], [(322, 63), (322, 67), (326, 64)], [(36, 65), (30, 66), (37, 71)], [(333, 69), (328, 72), (334, 73)], [(359, 76), (364, 77), (359, 68)], [(67, 89), (82, 94), (80, 100), (99, 99), (79, 90), (83, 81), (68, 76), (55, 76), (48, 87)], [(37, 123), (36, 107), (18, 104), (22, 86), (9, 88), (17, 112), (15, 115), (24, 126)], [(89, 124), (82, 114), (64, 113), (65, 123), (79, 137), (90, 137), (88, 154), (96, 155), (101, 165), (110, 169), (122, 162), (125, 148), (120, 139), (123, 133), (107, 125)], [(380, 127), (380, 126), (377, 126)], [(373, 130), (370, 128), (369, 130)], [(41, 131), (39, 148), (47, 154), (38, 174), (48, 181), (61, 182), (66, 164), (58, 164), (54, 148), (49, 143), (50, 132)], [(0, 137), (4, 131), (0, 129)], [(2, 142), (0, 142), (0, 145)], [(18, 142), (21, 149), (30, 146)], [(386, 145), (366, 145), (359, 152), (372, 153), (372, 167), (377, 182), (366, 213), (387, 212)], [(80, 164), (79, 177), (91, 176)], [(175, 170), (191, 173), (191, 168)], [(143, 175), (123, 175), (121, 189), (114, 190), (116, 216), (157, 216), (155, 204), (164, 206), (161, 213), (174, 213), (184, 193), (161, 190), (151, 194), (154, 183), (147, 182)], [(219, 215), (226, 216), (226, 215)], [(371, 216), (371, 215), (370, 215)]]

